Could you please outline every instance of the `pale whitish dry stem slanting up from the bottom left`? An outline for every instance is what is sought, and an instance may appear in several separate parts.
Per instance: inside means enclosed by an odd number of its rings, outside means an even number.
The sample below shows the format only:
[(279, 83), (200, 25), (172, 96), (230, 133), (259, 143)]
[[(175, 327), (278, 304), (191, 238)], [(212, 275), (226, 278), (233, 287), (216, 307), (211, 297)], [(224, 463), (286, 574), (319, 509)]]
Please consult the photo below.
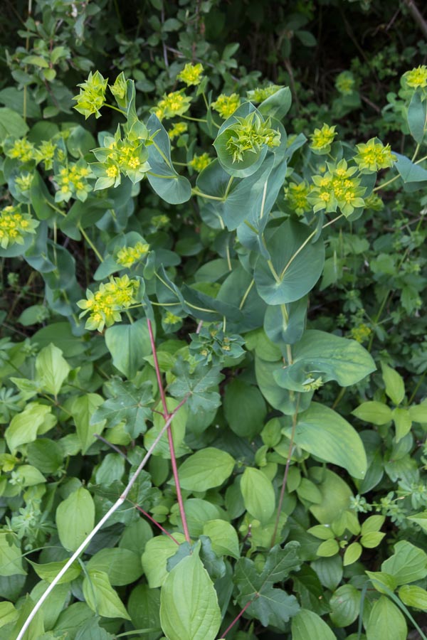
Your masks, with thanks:
[(162, 427), (162, 429), (160, 430), (159, 435), (154, 440), (152, 446), (149, 447), (147, 453), (145, 454), (144, 458), (141, 461), (141, 464), (139, 464), (137, 470), (135, 471), (135, 474), (133, 474), (132, 478), (130, 479), (130, 481), (128, 482), (128, 484), (126, 486), (125, 491), (123, 491), (123, 493), (120, 496), (120, 498), (118, 498), (118, 500), (112, 505), (112, 507), (107, 511), (107, 513), (105, 513), (105, 516), (100, 519), (100, 521), (97, 523), (97, 525), (95, 525), (95, 528), (93, 528), (93, 530), (89, 533), (87, 538), (85, 538), (85, 540), (83, 540), (83, 543), (81, 543), (80, 547), (77, 550), (75, 550), (75, 552), (71, 556), (70, 560), (68, 560), (66, 565), (63, 566), (63, 568), (60, 570), (58, 575), (56, 575), (56, 577), (53, 579), (53, 581), (48, 586), (46, 591), (43, 593), (41, 598), (38, 600), (38, 602), (36, 602), (31, 614), (28, 616), (28, 618), (24, 622), (21, 631), (19, 631), (19, 635), (16, 637), (16, 640), (22, 640), (23, 635), (25, 634), (26, 630), (28, 629), (28, 626), (30, 626), (31, 622), (33, 621), (33, 618), (36, 616), (36, 613), (41, 608), (41, 605), (46, 600), (48, 595), (56, 587), (56, 585), (58, 584), (58, 582), (61, 579), (61, 577), (63, 577), (63, 575), (65, 574), (65, 572), (67, 572), (67, 570), (70, 568), (70, 566), (73, 564), (73, 562), (75, 560), (77, 560), (77, 558), (79, 557), (80, 553), (82, 553), (83, 550), (85, 550), (87, 545), (90, 543), (90, 540), (92, 540), (92, 538), (97, 534), (97, 532), (100, 530), (100, 528), (107, 522), (108, 518), (110, 518), (110, 516), (112, 516), (112, 514), (115, 511), (117, 511), (117, 509), (125, 502), (125, 500), (127, 498), (127, 495), (129, 494), (130, 490), (132, 489), (132, 486), (135, 483), (137, 477), (141, 473), (142, 469), (144, 469), (144, 466), (147, 464), (147, 462), (149, 460), (149, 457), (151, 456), (151, 454), (154, 451), (154, 449), (157, 447), (157, 444), (159, 444), (159, 441), (162, 438), (162, 435), (167, 430), (167, 427), (169, 427), (169, 425), (171, 424), (172, 420), (174, 419), (174, 417), (176, 415), (176, 412), (182, 407), (182, 405), (184, 405), (184, 403), (186, 402), (187, 399), (188, 399), (188, 396), (186, 396), (186, 398), (184, 398), (184, 400), (181, 400), (181, 402), (179, 402), (179, 405), (176, 407), (174, 412), (172, 412), (172, 414), (169, 415), (167, 421), (164, 423), (164, 427)]

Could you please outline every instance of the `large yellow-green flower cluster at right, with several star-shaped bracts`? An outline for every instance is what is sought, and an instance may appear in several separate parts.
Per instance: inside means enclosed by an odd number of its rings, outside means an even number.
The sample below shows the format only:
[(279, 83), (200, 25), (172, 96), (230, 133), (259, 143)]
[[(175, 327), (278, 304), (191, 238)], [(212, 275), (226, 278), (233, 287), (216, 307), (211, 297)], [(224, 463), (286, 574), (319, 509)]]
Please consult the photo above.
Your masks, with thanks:
[(354, 209), (364, 206), (362, 196), (366, 188), (359, 186), (360, 178), (353, 177), (357, 167), (348, 167), (345, 160), (339, 161), (337, 166), (328, 164), (328, 169), (322, 176), (313, 176), (315, 186), (310, 191), (308, 201), (314, 213), (321, 210), (332, 213), (339, 207), (347, 218)]

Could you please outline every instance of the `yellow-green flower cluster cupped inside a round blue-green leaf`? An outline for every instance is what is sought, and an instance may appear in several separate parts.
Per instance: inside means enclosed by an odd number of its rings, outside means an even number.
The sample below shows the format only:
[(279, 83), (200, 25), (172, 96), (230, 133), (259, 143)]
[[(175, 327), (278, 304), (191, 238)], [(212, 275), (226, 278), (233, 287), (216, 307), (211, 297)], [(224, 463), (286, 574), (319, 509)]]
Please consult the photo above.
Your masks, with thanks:
[(246, 118), (236, 118), (228, 132), (226, 148), (233, 155), (233, 162), (243, 161), (246, 151), (258, 153), (265, 144), (269, 147), (279, 146), (280, 132), (270, 128), (270, 119), (263, 122), (258, 114), (252, 112)]

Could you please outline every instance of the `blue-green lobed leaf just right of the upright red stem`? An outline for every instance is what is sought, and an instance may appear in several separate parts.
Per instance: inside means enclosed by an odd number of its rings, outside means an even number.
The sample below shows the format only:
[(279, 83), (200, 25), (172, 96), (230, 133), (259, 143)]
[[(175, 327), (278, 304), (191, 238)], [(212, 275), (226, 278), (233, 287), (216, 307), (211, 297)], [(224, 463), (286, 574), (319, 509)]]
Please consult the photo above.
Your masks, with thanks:
[(169, 385), (169, 393), (181, 400), (188, 396), (188, 406), (191, 412), (215, 410), (221, 404), (221, 398), (216, 391), (210, 391), (223, 379), (219, 367), (209, 367), (198, 363), (191, 372), (191, 366), (182, 358), (178, 358), (172, 370), (176, 380)]

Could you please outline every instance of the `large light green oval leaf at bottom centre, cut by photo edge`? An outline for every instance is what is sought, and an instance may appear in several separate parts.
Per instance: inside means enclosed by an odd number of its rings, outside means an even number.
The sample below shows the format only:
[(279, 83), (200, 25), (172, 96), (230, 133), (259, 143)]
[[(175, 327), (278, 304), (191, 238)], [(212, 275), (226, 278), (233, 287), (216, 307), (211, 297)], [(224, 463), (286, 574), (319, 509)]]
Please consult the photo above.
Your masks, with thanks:
[(214, 585), (199, 553), (179, 562), (160, 594), (160, 623), (168, 640), (214, 640), (221, 611)]

